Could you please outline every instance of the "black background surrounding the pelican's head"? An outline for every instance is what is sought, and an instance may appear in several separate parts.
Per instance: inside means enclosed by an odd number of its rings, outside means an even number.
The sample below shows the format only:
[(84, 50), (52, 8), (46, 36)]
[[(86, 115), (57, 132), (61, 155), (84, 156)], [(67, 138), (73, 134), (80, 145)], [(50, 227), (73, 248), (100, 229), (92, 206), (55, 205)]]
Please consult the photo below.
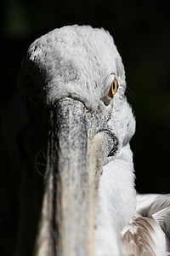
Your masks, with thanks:
[[(56, 27), (91, 25), (111, 32), (122, 55), (127, 96), (137, 120), (132, 140), (136, 187), (168, 193), (170, 145), (170, 15), (164, 1), (1, 0), (0, 120), (15, 90), (20, 61), (33, 40)], [(0, 144), (1, 184), (8, 159)]]

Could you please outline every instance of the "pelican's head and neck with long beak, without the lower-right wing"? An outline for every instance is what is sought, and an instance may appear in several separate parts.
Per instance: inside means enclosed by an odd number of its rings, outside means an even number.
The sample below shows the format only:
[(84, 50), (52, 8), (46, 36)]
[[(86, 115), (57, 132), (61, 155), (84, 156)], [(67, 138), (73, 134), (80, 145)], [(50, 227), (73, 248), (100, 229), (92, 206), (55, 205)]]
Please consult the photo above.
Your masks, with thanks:
[(31, 44), (3, 128), (20, 201), (16, 255), (121, 255), (137, 212), (125, 90), (104, 29), (64, 26)]

